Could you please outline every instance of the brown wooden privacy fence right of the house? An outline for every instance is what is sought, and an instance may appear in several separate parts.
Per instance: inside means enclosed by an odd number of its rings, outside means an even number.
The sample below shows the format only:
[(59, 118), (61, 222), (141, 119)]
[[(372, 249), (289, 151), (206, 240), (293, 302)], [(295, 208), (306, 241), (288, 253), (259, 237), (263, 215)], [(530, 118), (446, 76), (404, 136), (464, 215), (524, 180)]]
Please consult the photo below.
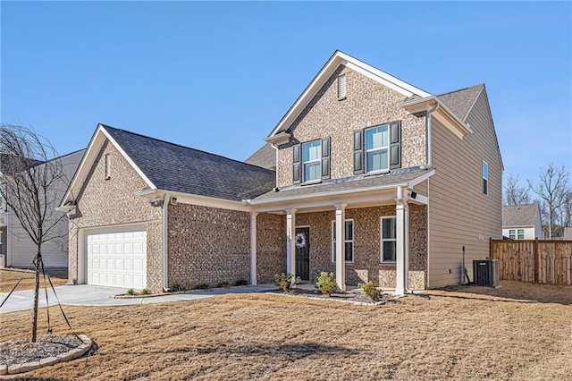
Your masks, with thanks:
[(572, 284), (572, 241), (491, 240), (501, 280)]

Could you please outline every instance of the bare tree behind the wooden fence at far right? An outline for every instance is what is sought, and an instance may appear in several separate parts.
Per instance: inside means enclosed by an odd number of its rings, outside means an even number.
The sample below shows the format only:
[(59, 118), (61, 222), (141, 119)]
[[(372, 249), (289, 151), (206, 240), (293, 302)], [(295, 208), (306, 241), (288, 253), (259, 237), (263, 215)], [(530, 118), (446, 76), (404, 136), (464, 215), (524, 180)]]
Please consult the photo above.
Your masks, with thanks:
[(556, 168), (551, 164), (541, 170), (538, 186), (534, 186), (534, 182), (530, 180), (526, 181), (530, 189), (543, 201), (547, 233), (549, 238), (553, 239), (555, 228), (562, 226), (563, 220), (569, 219), (569, 216), (562, 216), (562, 210), (568, 201), (568, 193), (571, 191), (568, 184), (568, 171), (564, 165)]

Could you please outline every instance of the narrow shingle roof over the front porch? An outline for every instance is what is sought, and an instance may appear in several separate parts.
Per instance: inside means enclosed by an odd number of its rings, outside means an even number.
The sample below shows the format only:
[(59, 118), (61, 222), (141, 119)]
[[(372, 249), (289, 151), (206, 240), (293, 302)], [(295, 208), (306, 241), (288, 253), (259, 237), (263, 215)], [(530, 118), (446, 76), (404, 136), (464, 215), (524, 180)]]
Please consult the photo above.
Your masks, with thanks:
[(319, 197), (329, 193), (343, 193), (352, 190), (375, 190), (383, 187), (390, 187), (404, 182), (409, 182), (417, 177), (430, 172), (431, 169), (422, 170), (416, 168), (406, 168), (392, 171), (390, 174), (378, 174), (374, 176), (353, 176), (343, 179), (325, 180), (314, 185), (293, 185), (282, 187), (279, 191), (271, 190), (256, 199), (253, 204), (274, 200), (297, 199), (299, 197)]

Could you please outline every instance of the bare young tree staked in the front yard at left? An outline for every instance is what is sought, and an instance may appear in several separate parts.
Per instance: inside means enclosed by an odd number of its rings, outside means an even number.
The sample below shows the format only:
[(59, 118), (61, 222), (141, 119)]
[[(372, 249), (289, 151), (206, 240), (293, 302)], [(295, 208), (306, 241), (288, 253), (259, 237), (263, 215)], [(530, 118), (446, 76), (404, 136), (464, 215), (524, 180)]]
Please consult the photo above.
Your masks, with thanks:
[(65, 216), (55, 211), (58, 187), (65, 184), (63, 165), (55, 148), (36, 132), (21, 126), (0, 126), (0, 182), (6, 204), (36, 244), (32, 342), (38, 331), (39, 273), (43, 269), (42, 245), (62, 238), (58, 222)]

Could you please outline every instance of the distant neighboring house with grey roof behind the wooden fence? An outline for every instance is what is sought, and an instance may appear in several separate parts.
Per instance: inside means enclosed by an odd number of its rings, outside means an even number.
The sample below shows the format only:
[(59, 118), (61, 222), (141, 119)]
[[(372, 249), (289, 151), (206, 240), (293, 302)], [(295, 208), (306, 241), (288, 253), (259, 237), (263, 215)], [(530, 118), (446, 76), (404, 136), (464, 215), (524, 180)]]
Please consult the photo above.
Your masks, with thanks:
[(543, 224), (538, 203), (502, 207), (502, 235), (511, 240), (542, 240)]

